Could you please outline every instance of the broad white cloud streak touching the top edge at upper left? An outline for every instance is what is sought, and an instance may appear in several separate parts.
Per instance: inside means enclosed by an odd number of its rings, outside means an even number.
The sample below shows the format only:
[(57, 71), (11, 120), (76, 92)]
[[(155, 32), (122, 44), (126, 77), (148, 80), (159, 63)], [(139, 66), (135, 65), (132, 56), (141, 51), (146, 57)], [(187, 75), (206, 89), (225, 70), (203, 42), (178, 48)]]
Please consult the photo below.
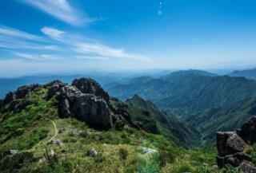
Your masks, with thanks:
[(24, 0), (24, 2), (73, 26), (94, 21), (94, 19), (86, 17), (85, 14), (70, 6), (66, 0)]

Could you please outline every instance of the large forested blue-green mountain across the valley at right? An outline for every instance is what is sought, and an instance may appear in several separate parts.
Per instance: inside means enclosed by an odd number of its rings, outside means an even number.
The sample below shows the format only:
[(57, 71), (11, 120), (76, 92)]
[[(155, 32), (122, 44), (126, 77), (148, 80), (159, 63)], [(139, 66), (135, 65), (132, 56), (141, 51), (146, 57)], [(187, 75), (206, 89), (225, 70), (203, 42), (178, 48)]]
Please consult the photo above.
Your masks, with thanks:
[[(248, 102), (256, 98), (256, 81), (181, 71), (159, 78), (135, 78), (107, 90), (122, 100), (138, 94), (152, 101), (161, 110), (197, 127), (206, 144), (214, 144), (216, 130), (234, 130), (250, 116), (244, 110), (253, 108)], [(226, 120), (230, 123), (225, 124)]]

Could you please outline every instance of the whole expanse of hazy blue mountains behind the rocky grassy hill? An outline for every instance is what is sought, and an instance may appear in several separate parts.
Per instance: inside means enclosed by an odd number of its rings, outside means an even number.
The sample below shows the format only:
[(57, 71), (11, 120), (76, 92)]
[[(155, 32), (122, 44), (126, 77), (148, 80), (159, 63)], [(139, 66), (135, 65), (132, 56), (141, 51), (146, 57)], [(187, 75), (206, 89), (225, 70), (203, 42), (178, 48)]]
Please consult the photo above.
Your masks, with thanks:
[[(228, 76), (220, 76), (202, 70), (183, 70), (173, 73), (166, 70), (130, 75), (90, 73), (87, 76), (99, 81), (111, 96), (121, 100), (129, 99), (127, 104), (135, 102), (137, 107), (150, 109), (159, 129), (165, 129), (162, 130), (164, 136), (169, 136), (172, 140), (185, 145), (196, 146), (213, 144), (216, 131), (234, 130), (244, 120), (254, 115), (256, 109), (256, 81), (252, 80), (256, 77), (254, 72), (255, 69), (248, 69), (234, 71), (227, 74)], [(7, 92), (20, 85), (46, 84), (55, 79), (70, 83), (78, 77), (82, 75), (2, 78), (0, 96), (5, 96)], [(145, 102), (140, 96), (150, 102)], [(178, 136), (182, 138), (179, 139)], [(191, 141), (201, 142), (191, 143)]]

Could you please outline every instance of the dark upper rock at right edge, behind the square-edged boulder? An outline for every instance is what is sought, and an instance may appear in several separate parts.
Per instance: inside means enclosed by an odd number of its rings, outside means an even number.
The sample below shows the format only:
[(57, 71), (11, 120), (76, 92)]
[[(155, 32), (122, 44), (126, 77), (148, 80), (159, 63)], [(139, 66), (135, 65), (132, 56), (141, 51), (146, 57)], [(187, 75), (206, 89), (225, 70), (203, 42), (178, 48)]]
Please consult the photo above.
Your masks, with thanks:
[(251, 117), (250, 120), (242, 124), (242, 127), (237, 132), (247, 144), (254, 144), (256, 142), (256, 116)]

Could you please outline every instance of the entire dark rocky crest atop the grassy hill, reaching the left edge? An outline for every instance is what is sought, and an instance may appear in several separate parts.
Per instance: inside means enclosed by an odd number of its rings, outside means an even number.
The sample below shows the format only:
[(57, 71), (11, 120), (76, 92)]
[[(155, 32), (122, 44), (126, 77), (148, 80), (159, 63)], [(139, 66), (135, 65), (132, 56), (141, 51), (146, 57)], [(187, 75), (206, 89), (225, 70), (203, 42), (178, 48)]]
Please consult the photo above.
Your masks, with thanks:
[(60, 117), (75, 117), (93, 128), (103, 130), (113, 128), (114, 122), (120, 119), (125, 121), (127, 126), (138, 128), (129, 116), (122, 116), (122, 112), (116, 113), (117, 111), (111, 108), (108, 93), (90, 78), (76, 79), (72, 85), (52, 81), (47, 85), (23, 86), (15, 92), (9, 92), (0, 105), (6, 110), (20, 112), (30, 105), (30, 100), (26, 99), (29, 93), (39, 88), (48, 88), (48, 100), (56, 98)]

